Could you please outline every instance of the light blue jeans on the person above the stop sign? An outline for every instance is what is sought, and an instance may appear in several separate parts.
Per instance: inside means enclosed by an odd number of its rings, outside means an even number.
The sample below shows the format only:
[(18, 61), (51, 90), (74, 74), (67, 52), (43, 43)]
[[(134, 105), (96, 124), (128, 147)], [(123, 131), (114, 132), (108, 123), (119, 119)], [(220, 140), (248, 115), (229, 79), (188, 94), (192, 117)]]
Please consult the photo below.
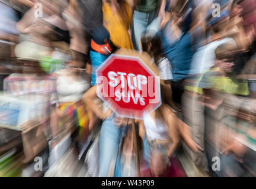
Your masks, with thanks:
[(155, 12), (147, 14), (135, 11), (133, 14), (132, 41), (135, 50), (142, 50), (140, 45), (144, 33), (154, 36), (160, 30), (161, 18), (155, 16)]

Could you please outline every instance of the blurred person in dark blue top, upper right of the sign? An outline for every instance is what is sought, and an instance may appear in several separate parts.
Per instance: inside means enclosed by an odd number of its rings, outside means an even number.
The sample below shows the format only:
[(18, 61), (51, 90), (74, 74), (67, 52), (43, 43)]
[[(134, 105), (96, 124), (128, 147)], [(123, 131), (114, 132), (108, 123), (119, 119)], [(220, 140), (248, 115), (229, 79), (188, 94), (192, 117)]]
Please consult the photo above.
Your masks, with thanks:
[(193, 36), (190, 29), (191, 1), (175, 1), (171, 4), (171, 18), (161, 31), (164, 56), (172, 66), (172, 99), (181, 106), (184, 79), (190, 71), (194, 54)]

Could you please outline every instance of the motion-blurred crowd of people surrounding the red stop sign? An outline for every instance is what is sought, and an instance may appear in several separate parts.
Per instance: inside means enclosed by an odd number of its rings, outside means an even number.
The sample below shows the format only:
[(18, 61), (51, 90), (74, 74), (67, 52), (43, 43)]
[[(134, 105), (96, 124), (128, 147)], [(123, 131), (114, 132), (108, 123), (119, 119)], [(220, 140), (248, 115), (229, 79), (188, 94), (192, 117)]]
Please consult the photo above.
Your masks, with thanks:
[[(0, 10), (3, 93), (43, 99), (44, 177), (188, 177), (181, 152), (196, 177), (256, 175), (255, 0), (10, 0)], [(132, 119), (97, 96), (96, 70), (120, 49), (147, 52), (161, 79), (162, 105), (135, 119), (137, 146)]]

